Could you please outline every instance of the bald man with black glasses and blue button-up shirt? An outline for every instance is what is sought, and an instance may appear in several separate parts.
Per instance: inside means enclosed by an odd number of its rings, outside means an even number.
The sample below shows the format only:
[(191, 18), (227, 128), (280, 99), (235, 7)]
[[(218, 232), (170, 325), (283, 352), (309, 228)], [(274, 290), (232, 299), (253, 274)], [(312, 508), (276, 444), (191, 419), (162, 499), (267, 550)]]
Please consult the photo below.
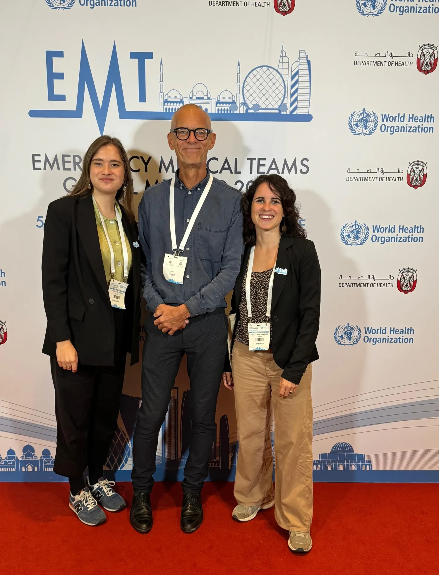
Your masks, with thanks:
[(234, 286), (242, 252), (241, 194), (213, 178), (207, 154), (215, 145), (207, 113), (194, 104), (175, 112), (167, 141), (178, 158), (171, 181), (151, 186), (139, 205), (146, 257), (142, 405), (133, 438), (130, 521), (152, 528), (150, 493), (158, 433), (183, 354), (190, 379), (190, 437), (182, 489), (181, 528), (203, 522), (201, 489), (215, 438), (215, 410), (227, 353), (224, 296)]

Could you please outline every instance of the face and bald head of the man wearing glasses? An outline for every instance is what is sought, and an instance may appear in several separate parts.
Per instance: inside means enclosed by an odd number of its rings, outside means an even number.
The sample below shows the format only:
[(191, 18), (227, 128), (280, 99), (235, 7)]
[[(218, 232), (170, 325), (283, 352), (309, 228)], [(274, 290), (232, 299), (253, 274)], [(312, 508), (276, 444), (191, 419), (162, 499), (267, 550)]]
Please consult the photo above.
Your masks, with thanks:
[[(207, 128), (210, 130), (212, 129), (211, 118), (198, 106), (186, 104), (175, 112), (171, 128), (189, 128), (190, 130)], [(209, 133), (204, 141), (197, 140), (193, 132), (190, 132), (187, 140), (179, 140), (175, 132), (170, 132), (167, 135), (169, 147), (171, 150), (175, 150), (180, 167), (203, 166), (207, 161), (208, 151), (212, 150), (215, 145), (215, 139), (214, 133)]]

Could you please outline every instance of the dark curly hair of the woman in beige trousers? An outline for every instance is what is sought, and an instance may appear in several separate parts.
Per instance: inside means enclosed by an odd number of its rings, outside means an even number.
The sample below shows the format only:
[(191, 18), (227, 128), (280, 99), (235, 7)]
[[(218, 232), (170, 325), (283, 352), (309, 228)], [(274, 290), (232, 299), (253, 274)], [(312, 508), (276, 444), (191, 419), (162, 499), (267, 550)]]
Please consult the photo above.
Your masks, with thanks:
[(258, 176), (251, 182), (249, 189), (241, 198), (241, 211), (243, 215), (242, 236), (246, 246), (254, 246), (256, 243), (256, 230), (251, 220), (251, 204), (255, 191), (261, 183), (267, 183), (279, 198), (284, 210), (284, 217), (280, 223), (281, 233), (285, 237), (306, 237), (307, 233), (299, 224), (299, 210), (296, 206), (296, 194), (287, 181), (277, 174)]

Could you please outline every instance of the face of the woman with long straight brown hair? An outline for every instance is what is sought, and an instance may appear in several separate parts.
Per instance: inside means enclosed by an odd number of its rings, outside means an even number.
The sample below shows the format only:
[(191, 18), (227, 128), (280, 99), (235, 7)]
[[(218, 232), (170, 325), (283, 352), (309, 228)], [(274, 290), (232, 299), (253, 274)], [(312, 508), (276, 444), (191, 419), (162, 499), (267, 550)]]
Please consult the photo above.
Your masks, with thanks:
[(119, 150), (114, 145), (104, 145), (93, 156), (90, 180), (93, 189), (101, 194), (115, 194), (125, 178), (125, 168)]

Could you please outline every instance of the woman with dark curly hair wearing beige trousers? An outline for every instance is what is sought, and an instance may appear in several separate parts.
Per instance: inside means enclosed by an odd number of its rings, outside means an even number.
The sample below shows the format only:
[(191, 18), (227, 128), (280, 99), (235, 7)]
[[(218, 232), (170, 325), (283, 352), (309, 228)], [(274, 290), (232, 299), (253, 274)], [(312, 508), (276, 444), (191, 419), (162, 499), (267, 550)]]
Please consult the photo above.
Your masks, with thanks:
[(223, 374), (235, 392), (238, 423), (232, 517), (247, 522), (274, 505), (276, 522), (289, 531), (289, 549), (306, 553), (312, 546), (311, 362), (319, 357), (319, 260), (299, 224), (296, 194), (280, 176), (257, 177), (241, 209), (246, 248), (232, 297), (231, 365), (226, 358)]

